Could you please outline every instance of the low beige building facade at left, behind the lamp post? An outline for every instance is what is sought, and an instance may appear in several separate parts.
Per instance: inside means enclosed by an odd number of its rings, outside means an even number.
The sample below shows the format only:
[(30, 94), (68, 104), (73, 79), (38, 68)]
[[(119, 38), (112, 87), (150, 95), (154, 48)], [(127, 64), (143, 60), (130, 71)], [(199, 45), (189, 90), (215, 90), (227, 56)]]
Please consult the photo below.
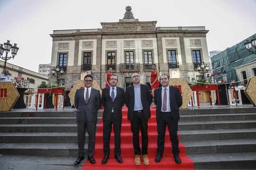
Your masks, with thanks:
[[(6, 63), (6, 68), (9, 69), (9, 73), (11, 74), (11, 77), (14, 79), (15, 77), (18, 77), (19, 80), (21, 78), (30, 78), (30, 84), (29, 88), (33, 91), (37, 91), (37, 86), (41, 84), (42, 82), (48, 83), (48, 76), (42, 75), (36, 72), (33, 72), (31, 70), (22, 68), (20, 66), (16, 66), (14, 64)], [(0, 61), (0, 73), (2, 74), (2, 71), (4, 69), (4, 62)], [(27, 86), (28, 87), (28, 86)]]

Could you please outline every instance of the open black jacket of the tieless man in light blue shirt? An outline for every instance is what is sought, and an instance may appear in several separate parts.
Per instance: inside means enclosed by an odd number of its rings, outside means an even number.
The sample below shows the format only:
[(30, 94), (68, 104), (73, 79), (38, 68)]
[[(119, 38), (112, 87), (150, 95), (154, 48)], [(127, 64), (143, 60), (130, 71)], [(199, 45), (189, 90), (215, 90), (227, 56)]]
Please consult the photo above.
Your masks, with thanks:
[[(142, 101), (143, 113), (146, 119), (151, 117), (150, 105), (152, 103), (151, 93), (148, 85), (140, 84), (140, 97)], [(134, 113), (134, 86), (131, 85), (126, 88), (125, 92), (125, 102), (128, 108), (127, 119), (132, 120)]]

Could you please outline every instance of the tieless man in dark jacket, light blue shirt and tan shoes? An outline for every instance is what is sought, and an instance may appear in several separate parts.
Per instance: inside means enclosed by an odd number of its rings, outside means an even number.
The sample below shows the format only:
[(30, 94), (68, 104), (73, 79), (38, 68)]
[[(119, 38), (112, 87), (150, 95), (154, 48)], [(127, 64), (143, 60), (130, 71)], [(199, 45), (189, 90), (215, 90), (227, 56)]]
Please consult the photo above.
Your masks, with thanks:
[[(128, 120), (131, 122), (133, 133), (133, 148), (135, 153), (134, 163), (140, 164), (140, 154), (143, 163), (148, 165), (148, 119), (150, 118), (151, 94), (149, 87), (140, 84), (140, 75), (132, 75), (133, 85), (126, 88), (125, 101), (128, 108)], [(142, 135), (142, 151), (139, 144), (139, 130)]]

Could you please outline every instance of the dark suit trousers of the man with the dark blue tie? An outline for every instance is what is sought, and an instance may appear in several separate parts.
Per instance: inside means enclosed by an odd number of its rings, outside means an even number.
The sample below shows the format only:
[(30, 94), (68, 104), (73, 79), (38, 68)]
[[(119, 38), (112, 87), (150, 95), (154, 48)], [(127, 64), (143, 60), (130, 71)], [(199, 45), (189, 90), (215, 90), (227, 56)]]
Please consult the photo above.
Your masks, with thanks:
[(110, 154), (110, 135), (112, 131), (112, 124), (114, 130), (114, 154), (120, 156), (121, 154), (121, 124), (122, 121), (115, 121), (114, 115), (111, 115), (109, 121), (103, 121), (103, 151), (104, 156)]

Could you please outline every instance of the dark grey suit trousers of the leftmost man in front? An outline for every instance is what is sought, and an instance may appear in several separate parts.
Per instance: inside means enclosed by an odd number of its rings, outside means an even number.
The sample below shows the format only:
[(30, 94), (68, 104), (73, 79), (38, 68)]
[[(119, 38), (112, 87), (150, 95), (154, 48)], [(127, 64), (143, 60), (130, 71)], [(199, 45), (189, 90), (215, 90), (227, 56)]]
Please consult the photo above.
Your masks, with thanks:
[(87, 117), (82, 122), (77, 122), (78, 127), (78, 155), (84, 157), (85, 155), (85, 132), (87, 129), (89, 139), (88, 139), (88, 157), (92, 157), (95, 151), (95, 133), (96, 133), (96, 123), (88, 122)]

